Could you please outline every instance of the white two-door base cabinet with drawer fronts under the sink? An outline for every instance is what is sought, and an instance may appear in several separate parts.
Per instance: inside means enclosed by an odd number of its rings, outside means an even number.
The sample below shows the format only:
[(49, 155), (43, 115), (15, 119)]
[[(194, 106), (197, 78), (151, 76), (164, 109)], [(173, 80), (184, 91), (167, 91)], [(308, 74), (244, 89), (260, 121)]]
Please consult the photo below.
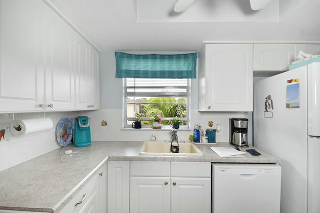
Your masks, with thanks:
[(209, 162), (131, 161), (130, 166), (130, 213), (210, 212)]

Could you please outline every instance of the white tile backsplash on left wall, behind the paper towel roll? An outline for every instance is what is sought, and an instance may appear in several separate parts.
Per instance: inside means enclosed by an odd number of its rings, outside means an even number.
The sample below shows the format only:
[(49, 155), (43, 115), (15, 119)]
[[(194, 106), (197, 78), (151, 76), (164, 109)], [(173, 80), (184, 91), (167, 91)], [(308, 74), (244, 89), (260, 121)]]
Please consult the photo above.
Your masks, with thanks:
[(0, 139), (0, 171), (60, 147), (56, 139), (51, 140), (51, 129), (13, 136), (8, 128), (13, 116), (14, 119), (50, 117), (53, 122), (52, 130), (55, 131), (56, 125), (62, 117), (74, 117), (82, 114), (83, 112), (0, 114), (0, 129), (5, 130), (4, 138)]

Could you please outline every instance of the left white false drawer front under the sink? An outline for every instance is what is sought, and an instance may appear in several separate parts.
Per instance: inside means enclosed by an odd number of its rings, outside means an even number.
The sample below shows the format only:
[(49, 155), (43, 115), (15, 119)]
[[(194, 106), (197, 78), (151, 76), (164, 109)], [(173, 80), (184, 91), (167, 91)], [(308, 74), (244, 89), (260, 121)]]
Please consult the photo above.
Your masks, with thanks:
[(130, 176), (170, 176), (170, 162), (131, 161)]

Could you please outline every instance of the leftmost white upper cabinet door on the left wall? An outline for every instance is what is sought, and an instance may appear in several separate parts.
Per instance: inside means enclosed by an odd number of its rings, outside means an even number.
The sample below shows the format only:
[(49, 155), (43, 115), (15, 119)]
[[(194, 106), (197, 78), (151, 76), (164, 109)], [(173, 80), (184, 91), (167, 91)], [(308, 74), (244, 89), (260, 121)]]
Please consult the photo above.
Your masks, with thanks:
[(0, 112), (43, 111), (42, 3), (0, 0)]

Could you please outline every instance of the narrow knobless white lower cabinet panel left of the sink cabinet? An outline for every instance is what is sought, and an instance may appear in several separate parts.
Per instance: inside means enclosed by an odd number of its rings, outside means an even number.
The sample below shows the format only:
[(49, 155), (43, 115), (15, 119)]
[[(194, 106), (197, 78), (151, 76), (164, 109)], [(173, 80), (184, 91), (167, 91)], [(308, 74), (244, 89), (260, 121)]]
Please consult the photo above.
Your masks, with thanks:
[(129, 212), (129, 161), (108, 161), (107, 212)]

